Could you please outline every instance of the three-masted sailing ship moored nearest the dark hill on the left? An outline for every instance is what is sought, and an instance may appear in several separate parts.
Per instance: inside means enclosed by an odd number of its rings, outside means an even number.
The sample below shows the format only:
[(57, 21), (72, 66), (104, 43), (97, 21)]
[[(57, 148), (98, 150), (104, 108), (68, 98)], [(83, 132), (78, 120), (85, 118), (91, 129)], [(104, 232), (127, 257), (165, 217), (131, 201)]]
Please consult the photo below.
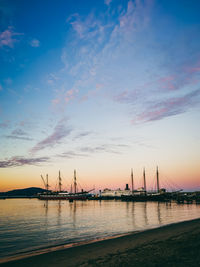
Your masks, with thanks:
[(90, 196), (89, 193), (93, 191), (93, 189), (89, 191), (84, 191), (83, 189), (80, 192), (77, 191), (76, 170), (74, 170), (74, 192), (72, 192), (72, 190), (71, 192), (62, 191), (62, 178), (60, 175), (60, 171), (58, 176), (59, 191), (57, 192), (49, 190), (48, 175), (46, 176), (46, 182), (42, 175), (41, 178), (43, 180), (46, 189), (46, 192), (38, 195), (38, 198), (41, 200), (69, 200), (69, 201), (86, 200)]

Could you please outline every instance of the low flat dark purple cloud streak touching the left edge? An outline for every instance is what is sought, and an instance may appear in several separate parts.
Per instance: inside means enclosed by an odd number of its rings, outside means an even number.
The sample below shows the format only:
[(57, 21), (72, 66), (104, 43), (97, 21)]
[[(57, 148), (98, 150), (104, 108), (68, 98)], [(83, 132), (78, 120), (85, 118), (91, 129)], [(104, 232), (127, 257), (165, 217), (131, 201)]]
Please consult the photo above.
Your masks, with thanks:
[(0, 168), (19, 167), (24, 165), (39, 165), (49, 161), (49, 157), (40, 158), (25, 158), (25, 157), (12, 157), (0, 161)]

